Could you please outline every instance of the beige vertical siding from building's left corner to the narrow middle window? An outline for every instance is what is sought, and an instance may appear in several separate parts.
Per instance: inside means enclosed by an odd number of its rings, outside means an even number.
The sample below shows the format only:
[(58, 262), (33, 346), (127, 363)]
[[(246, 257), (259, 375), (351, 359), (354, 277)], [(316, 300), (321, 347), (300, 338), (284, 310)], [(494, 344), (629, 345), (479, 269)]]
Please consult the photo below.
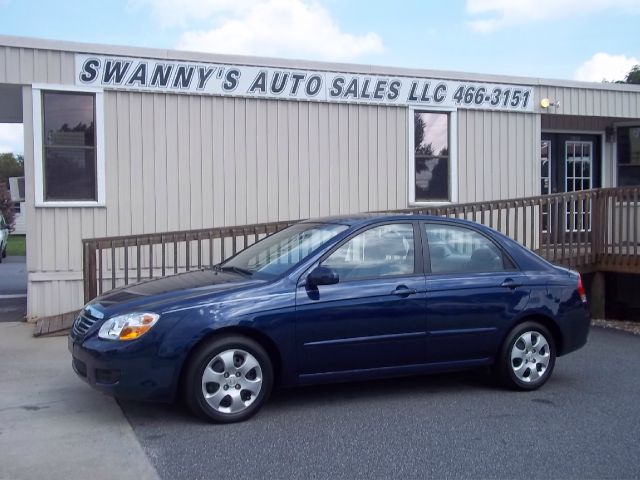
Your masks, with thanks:
[[(404, 108), (136, 92), (104, 99), (107, 206), (30, 202), (30, 315), (80, 306), (81, 238), (407, 206)], [(25, 154), (32, 178), (32, 149)], [(67, 280), (48, 280), (54, 273)]]

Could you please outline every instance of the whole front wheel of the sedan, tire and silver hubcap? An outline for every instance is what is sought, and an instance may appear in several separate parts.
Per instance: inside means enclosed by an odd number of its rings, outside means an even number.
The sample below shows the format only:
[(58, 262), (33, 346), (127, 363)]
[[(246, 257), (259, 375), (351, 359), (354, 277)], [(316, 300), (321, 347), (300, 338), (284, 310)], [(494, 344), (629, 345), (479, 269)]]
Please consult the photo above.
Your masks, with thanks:
[(269, 355), (242, 336), (215, 338), (198, 347), (186, 370), (185, 394), (198, 416), (219, 423), (246, 420), (273, 386)]

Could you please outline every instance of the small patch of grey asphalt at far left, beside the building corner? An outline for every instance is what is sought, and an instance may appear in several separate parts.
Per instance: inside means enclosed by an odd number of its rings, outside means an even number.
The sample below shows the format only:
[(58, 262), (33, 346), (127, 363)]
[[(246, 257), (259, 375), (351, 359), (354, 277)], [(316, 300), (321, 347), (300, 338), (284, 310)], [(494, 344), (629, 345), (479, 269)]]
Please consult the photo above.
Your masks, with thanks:
[(22, 321), (27, 314), (27, 257), (0, 263), (0, 322)]

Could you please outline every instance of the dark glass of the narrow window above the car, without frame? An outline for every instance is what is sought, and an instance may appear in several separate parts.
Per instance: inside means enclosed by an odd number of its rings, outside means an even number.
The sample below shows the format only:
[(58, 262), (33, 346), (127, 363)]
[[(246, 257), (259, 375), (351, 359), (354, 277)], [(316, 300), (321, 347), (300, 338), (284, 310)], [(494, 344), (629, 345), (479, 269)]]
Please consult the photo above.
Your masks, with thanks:
[(449, 124), (448, 113), (413, 114), (415, 202), (451, 201)]

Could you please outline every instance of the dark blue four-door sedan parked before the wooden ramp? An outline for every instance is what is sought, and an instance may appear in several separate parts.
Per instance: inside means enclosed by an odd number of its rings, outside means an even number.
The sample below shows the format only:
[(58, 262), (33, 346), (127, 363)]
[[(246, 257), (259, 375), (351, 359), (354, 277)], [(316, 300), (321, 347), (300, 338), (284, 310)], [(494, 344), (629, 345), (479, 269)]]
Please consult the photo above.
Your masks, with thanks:
[(580, 275), (482, 225), (430, 216), (297, 223), (204, 269), (85, 306), (73, 367), (116, 396), (185, 396), (210, 420), (255, 413), (296, 386), (492, 366), (544, 384), (582, 347)]

